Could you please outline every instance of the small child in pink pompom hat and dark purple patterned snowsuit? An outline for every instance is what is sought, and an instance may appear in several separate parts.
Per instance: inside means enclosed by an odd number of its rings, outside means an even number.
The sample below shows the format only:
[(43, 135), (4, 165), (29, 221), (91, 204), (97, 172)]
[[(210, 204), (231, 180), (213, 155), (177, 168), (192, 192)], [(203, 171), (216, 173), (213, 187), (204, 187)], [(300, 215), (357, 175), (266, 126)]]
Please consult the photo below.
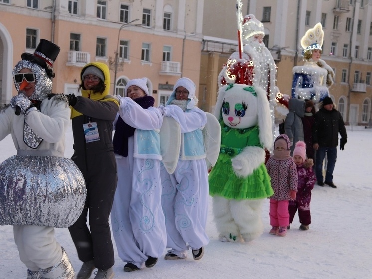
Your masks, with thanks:
[(292, 223), (298, 209), (298, 217), (301, 223), (300, 230), (308, 230), (311, 223), (311, 190), (314, 188), (316, 177), (313, 172), (313, 159), (306, 159), (306, 144), (303, 141), (296, 143), (293, 150), (293, 160), (297, 168), (298, 185), (296, 200), (289, 201), (288, 205), (289, 222)]

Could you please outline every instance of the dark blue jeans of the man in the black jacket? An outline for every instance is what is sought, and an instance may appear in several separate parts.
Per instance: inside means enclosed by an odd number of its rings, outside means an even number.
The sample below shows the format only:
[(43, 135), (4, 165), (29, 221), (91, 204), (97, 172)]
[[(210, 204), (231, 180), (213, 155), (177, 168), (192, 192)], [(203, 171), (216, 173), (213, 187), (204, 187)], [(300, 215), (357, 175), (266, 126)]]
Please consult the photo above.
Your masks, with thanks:
[(319, 147), (315, 158), (315, 175), (318, 182), (323, 182), (322, 164), (327, 154), (327, 170), (324, 181), (333, 182), (333, 170), (335, 169), (337, 159), (337, 147)]

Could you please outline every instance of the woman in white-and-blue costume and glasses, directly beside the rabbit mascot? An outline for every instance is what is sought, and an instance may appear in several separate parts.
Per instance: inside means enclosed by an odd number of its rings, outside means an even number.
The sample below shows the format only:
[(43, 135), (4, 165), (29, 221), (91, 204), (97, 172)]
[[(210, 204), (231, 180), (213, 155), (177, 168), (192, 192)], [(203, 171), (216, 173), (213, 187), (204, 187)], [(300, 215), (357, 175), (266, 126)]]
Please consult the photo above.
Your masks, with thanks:
[(161, 170), (162, 206), (166, 217), (166, 260), (187, 257), (192, 249), (195, 260), (201, 259), (204, 246), (209, 243), (205, 232), (208, 213), (208, 170), (202, 129), (207, 123), (206, 114), (196, 107), (196, 86), (192, 80), (177, 80), (164, 116), (181, 126), (180, 157), (173, 174)]

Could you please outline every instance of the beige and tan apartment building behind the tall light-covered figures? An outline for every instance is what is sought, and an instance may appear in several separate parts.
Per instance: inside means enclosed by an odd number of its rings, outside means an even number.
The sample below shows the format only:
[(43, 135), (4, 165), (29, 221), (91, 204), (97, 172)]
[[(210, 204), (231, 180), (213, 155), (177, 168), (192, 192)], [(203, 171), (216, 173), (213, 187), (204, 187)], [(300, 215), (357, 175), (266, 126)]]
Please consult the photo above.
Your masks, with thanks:
[[(324, 31), (321, 58), (336, 73), (330, 95), (349, 124), (372, 119), (372, 0), (242, 0), (243, 16), (265, 26), (265, 45), (277, 65), (277, 86), (291, 94), (292, 68), (303, 65), (300, 40), (318, 22)], [(213, 110), (217, 76), (237, 47), (236, 1), (205, 1), (200, 67), (200, 106)], [(218, 31), (216, 31), (218, 30)], [(200, 98), (199, 98), (200, 99)]]

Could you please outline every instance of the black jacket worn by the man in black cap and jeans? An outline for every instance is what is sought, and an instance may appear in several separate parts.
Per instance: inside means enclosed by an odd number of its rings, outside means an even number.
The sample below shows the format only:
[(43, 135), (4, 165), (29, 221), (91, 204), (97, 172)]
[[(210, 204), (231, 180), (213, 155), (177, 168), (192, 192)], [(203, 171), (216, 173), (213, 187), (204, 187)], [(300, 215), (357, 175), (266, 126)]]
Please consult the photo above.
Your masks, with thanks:
[(347, 138), (345, 123), (338, 110), (321, 108), (314, 117), (313, 143), (320, 147), (337, 147), (339, 133), (341, 138)]

